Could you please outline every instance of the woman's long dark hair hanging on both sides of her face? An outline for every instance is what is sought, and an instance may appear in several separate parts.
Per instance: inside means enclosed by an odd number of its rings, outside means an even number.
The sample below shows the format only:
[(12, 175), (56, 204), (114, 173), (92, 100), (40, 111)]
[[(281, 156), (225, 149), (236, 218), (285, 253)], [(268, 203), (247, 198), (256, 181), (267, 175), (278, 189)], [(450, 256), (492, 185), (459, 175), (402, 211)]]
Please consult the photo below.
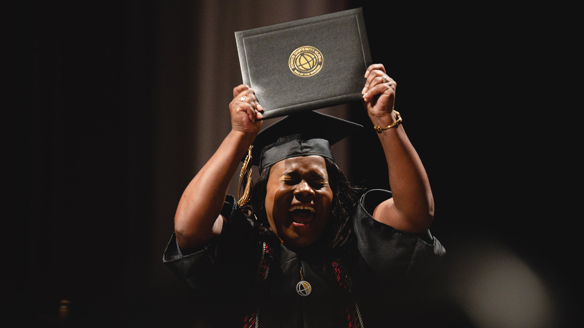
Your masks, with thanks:
[[(331, 204), (331, 219), (325, 228), (322, 238), (328, 242), (331, 250), (335, 254), (344, 253), (345, 246), (352, 236), (353, 224), (351, 214), (353, 204), (363, 190), (360, 187), (353, 186), (345, 173), (329, 158), (325, 158), (326, 172), (329, 177), (329, 184), (333, 193)], [(260, 235), (269, 240), (279, 240), (274, 232), (269, 228), (269, 222), (266, 215), (266, 186), (270, 177), (272, 166), (264, 168), (260, 172), (258, 182), (252, 189), (252, 197), (249, 202), (250, 210), (258, 218), (258, 231)], [(336, 256), (335, 256), (336, 257)]]

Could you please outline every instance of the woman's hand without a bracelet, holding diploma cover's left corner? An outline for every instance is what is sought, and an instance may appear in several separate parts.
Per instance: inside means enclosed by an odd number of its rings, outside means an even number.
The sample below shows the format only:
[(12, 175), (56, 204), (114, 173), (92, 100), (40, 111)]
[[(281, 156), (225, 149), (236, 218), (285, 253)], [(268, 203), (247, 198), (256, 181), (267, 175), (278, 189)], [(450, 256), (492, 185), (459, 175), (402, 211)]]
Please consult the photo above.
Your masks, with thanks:
[(234, 99), (229, 104), (231, 128), (244, 133), (258, 134), (262, 126), (260, 118), (263, 117), (263, 107), (258, 103), (255, 92), (242, 84), (233, 89), (233, 96)]

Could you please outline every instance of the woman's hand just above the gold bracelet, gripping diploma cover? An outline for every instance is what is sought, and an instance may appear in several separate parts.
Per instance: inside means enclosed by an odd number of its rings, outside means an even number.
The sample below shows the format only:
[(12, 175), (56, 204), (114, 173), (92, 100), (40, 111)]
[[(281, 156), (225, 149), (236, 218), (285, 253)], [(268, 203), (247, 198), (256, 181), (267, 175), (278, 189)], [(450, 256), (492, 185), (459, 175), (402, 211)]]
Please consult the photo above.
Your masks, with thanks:
[[(365, 72), (363, 107), (373, 124), (391, 124), (395, 121), (394, 102), (397, 83), (385, 74), (382, 64), (373, 64)], [(388, 123), (389, 122), (389, 123)], [(387, 124), (386, 124), (387, 123)]]

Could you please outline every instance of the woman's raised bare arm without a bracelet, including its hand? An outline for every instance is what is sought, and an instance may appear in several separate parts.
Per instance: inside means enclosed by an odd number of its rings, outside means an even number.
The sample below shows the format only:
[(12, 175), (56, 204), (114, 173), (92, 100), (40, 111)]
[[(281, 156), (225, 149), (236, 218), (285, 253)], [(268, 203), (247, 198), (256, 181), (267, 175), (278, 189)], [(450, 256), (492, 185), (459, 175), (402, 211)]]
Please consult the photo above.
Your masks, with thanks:
[(200, 248), (221, 232), (225, 218), (220, 212), (231, 177), (262, 125), (256, 119), (262, 118), (259, 111), (263, 109), (253, 90), (239, 85), (233, 96), (229, 104), (231, 132), (191, 180), (176, 209), (176, 241), (184, 252)]

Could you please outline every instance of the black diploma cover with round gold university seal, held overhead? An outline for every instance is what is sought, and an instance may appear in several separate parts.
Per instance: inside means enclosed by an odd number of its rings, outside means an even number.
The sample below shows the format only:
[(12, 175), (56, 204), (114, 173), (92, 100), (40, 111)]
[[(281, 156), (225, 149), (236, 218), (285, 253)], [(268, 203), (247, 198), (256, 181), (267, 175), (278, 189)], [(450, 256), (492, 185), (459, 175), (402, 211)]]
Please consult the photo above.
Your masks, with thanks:
[(371, 64), (361, 8), (235, 32), (264, 118), (362, 99)]

